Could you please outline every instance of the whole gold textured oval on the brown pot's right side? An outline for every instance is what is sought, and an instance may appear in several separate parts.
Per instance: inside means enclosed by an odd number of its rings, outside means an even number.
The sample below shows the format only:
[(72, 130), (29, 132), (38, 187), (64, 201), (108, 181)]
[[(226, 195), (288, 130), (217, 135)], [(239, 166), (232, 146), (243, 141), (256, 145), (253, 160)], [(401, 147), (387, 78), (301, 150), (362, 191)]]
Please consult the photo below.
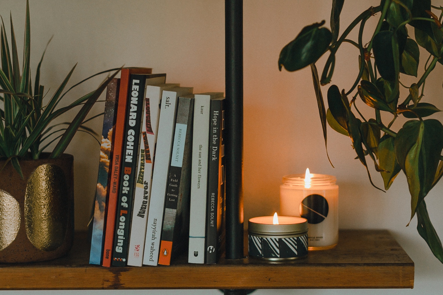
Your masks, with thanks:
[(65, 175), (54, 164), (35, 168), (25, 192), (26, 234), (35, 248), (53, 251), (65, 240), (68, 198)]

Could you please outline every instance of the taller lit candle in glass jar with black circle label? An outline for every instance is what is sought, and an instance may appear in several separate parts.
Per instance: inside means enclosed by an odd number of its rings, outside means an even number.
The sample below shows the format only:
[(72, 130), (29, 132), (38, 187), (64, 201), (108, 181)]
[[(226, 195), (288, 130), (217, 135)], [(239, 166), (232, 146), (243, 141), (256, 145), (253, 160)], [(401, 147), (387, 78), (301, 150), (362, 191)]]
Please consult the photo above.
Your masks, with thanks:
[(285, 175), (280, 185), (280, 212), (308, 222), (309, 250), (333, 248), (338, 242), (338, 185), (335, 177), (306, 173)]

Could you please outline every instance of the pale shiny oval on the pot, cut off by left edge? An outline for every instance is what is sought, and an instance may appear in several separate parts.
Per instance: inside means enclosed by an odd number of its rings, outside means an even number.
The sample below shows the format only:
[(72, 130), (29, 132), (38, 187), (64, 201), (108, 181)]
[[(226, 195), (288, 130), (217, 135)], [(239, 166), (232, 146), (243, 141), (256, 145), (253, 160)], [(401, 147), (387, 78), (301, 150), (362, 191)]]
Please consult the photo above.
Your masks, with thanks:
[(20, 229), (20, 205), (4, 190), (0, 190), (0, 251), (8, 247)]

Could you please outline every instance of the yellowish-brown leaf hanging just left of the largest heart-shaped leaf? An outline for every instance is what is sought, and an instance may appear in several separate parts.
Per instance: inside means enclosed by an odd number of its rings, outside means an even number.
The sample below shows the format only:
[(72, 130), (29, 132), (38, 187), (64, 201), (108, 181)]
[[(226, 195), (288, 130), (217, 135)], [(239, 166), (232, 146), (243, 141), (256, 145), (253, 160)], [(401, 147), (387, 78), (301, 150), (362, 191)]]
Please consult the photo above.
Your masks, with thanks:
[(389, 190), (392, 182), (401, 171), (400, 165), (397, 163), (394, 151), (394, 137), (385, 134), (378, 144), (378, 163), (382, 170), (380, 174), (385, 183), (385, 190)]

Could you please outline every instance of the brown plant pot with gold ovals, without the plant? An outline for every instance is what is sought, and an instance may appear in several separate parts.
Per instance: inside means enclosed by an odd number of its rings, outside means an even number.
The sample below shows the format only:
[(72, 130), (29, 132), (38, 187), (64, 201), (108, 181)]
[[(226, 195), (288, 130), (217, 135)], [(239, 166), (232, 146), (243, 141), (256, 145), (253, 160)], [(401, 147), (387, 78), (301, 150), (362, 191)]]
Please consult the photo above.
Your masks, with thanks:
[(0, 263), (51, 260), (69, 252), (74, 237), (73, 162), (68, 154), (20, 160), (21, 179), (11, 163), (4, 167), (0, 161)]

